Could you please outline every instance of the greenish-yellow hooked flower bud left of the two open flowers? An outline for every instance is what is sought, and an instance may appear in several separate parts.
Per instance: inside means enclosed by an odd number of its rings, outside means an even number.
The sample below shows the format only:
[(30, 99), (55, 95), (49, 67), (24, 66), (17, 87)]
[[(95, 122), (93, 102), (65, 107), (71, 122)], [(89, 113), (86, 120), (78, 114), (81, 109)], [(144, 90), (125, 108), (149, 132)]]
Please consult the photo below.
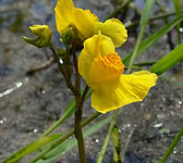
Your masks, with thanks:
[(48, 47), (51, 45), (51, 36), (52, 33), (49, 29), (49, 26), (47, 25), (34, 25), (30, 26), (29, 29), (32, 30), (32, 33), (38, 37), (36, 38), (27, 38), (25, 36), (23, 36), (23, 39), (30, 43), (34, 45), (38, 48), (42, 48), (42, 47)]

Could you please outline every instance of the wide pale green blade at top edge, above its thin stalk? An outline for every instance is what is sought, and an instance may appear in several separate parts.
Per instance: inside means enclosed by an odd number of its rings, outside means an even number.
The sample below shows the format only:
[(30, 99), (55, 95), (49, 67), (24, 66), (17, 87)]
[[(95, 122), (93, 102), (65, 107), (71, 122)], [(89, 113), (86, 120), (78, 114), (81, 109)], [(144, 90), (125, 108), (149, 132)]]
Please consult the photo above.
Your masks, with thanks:
[(143, 14), (142, 14), (141, 22), (139, 22), (141, 26), (144, 26), (144, 25), (148, 24), (148, 20), (149, 20), (149, 16), (150, 16), (150, 11), (151, 11), (151, 8), (154, 7), (154, 3), (155, 3), (155, 0), (146, 0), (145, 1), (145, 5), (144, 5), (144, 9), (143, 9)]

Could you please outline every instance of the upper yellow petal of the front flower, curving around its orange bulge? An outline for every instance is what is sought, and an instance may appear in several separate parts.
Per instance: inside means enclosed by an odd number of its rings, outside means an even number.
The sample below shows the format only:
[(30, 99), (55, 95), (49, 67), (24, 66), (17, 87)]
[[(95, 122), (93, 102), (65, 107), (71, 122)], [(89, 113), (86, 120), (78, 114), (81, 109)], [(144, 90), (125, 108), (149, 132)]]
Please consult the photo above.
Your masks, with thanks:
[(78, 57), (78, 72), (90, 86), (89, 70), (91, 62), (102, 55), (114, 52), (112, 40), (103, 35), (94, 35), (84, 42), (84, 49)]

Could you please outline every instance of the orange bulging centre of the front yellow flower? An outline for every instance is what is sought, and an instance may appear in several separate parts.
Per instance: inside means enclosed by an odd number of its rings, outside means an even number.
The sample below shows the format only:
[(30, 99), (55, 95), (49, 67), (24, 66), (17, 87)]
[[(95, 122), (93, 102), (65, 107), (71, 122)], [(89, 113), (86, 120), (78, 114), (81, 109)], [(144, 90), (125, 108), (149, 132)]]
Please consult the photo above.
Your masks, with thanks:
[(90, 66), (89, 76), (93, 82), (105, 82), (118, 78), (124, 71), (124, 65), (118, 53), (112, 52), (96, 58)]

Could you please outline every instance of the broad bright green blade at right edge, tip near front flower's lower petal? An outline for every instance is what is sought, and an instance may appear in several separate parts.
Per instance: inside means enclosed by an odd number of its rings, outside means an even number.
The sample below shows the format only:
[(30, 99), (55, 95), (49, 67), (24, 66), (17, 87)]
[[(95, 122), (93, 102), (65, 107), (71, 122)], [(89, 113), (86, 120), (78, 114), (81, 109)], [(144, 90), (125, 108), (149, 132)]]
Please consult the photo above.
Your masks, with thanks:
[(183, 43), (179, 45), (170, 53), (155, 63), (149, 71), (151, 73), (156, 73), (157, 75), (161, 75), (181, 61), (183, 61)]

